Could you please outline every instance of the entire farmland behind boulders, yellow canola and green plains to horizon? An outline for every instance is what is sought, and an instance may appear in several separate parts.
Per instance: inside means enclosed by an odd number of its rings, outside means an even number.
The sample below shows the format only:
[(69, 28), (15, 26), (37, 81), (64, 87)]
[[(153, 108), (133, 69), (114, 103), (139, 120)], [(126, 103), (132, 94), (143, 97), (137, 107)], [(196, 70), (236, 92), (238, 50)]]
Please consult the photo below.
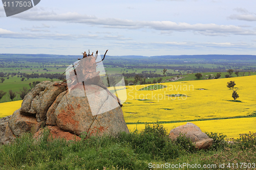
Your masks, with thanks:
[[(22, 103), (19, 94), (11, 102), (8, 96), (10, 89), (18, 92), (23, 87), (31, 89), (29, 83), (34, 81), (59, 81), (39, 75), (62, 74), (79, 57), (0, 54), (0, 72), (4, 73), (0, 78), (5, 79), (0, 83), (0, 90), (7, 92), (0, 100), (0, 117), (12, 114)], [(256, 130), (255, 56), (106, 56), (103, 64), (106, 74), (122, 74), (128, 82), (135, 80), (129, 74), (145, 78), (145, 82), (162, 78), (162, 83), (156, 85), (126, 86), (125, 90), (118, 90), (119, 94), (127, 94), (122, 110), (130, 131), (143, 129), (144, 123), (156, 121), (168, 130), (193, 122), (202, 131), (224, 133), (227, 137), (239, 137), (239, 133)], [(167, 69), (165, 75), (163, 68)], [(235, 75), (233, 72), (232, 78), (225, 78), (227, 69), (240, 73)], [(196, 72), (202, 73), (199, 80), (195, 77)], [(220, 79), (207, 80), (218, 72), (221, 72)], [(26, 74), (38, 76), (29, 78)], [(173, 77), (179, 79), (170, 82)], [(233, 101), (232, 90), (226, 87), (229, 81), (235, 81), (239, 88), (239, 102)]]

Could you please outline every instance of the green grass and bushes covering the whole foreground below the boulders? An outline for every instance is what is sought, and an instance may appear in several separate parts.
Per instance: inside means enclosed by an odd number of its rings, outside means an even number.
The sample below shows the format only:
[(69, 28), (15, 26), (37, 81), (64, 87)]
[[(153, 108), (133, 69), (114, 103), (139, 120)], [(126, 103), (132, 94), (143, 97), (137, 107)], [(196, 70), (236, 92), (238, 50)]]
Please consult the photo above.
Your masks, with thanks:
[(120, 133), (115, 137), (89, 137), (84, 133), (80, 141), (52, 140), (48, 130), (38, 140), (27, 133), (9, 145), (0, 145), (0, 169), (150, 169), (153, 164), (166, 162), (170, 166), (256, 162), (255, 133), (230, 139), (233, 143), (228, 143), (223, 134), (206, 134), (214, 139), (212, 147), (198, 151), (182, 134), (176, 141), (169, 140), (168, 133), (158, 123), (145, 125), (140, 132)]

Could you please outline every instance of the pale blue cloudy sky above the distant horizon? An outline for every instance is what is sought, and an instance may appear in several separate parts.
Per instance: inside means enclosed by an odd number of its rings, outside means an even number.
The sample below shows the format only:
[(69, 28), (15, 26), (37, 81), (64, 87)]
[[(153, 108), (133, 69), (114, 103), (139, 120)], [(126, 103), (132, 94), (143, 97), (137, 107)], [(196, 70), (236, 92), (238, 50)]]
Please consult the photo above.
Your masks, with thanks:
[(6, 17), (0, 53), (80, 55), (256, 54), (256, 1), (41, 0)]

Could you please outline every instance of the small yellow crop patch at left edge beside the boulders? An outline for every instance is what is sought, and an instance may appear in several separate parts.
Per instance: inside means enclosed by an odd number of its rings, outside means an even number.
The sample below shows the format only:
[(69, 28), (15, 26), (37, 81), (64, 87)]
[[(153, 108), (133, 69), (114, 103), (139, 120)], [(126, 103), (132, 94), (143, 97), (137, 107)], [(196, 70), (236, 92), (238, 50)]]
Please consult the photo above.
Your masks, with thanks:
[(0, 117), (11, 115), (22, 106), (22, 101), (0, 103)]

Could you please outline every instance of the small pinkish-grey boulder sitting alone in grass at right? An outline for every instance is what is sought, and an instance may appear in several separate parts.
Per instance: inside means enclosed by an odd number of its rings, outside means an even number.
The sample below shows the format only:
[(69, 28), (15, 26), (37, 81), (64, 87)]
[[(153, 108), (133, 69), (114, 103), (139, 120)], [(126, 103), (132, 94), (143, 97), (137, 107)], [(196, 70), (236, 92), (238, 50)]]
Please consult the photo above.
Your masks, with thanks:
[(208, 149), (212, 145), (214, 139), (209, 138), (201, 129), (193, 123), (187, 123), (186, 125), (181, 125), (177, 128), (170, 130), (169, 138), (176, 140), (180, 134), (184, 134), (186, 137), (190, 138), (196, 145), (198, 150)]

